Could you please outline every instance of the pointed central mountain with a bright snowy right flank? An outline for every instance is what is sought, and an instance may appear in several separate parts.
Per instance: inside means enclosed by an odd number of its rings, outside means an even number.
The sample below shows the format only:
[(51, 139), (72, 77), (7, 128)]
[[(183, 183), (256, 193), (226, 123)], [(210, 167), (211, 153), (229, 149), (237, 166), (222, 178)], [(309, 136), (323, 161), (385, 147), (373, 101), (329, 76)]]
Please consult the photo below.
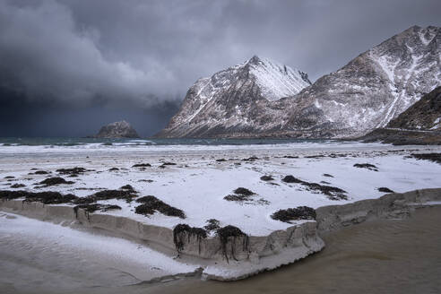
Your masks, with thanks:
[[(280, 126), (272, 105), (309, 86), (307, 73), (253, 56), (241, 65), (202, 78), (162, 137), (211, 137), (262, 133)], [(277, 112), (277, 111), (276, 111)]]

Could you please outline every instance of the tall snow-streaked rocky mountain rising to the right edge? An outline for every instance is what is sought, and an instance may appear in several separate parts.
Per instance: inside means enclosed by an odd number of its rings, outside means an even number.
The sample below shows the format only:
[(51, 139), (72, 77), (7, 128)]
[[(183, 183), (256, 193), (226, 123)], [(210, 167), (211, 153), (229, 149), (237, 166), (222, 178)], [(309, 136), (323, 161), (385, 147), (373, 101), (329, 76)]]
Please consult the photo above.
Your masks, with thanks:
[(438, 85), (441, 29), (414, 26), (300, 92), (283, 128), (312, 137), (366, 134)]

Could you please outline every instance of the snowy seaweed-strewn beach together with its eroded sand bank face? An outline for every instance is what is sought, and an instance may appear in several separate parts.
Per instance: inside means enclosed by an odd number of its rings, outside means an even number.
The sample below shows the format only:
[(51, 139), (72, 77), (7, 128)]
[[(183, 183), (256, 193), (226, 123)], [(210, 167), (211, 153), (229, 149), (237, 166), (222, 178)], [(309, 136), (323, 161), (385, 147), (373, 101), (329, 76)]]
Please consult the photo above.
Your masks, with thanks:
[[(156, 272), (142, 281), (169, 280), (179, 274), (234, 281), (319, 252), (325, 246), (325, 231), (378, 218), (405, 218), (415, 205), (441, 202), (439, 146), (299, 143), (224, 147), (5, 153), (8, 156), (0, 158), (0, 186), (7, 189), (4, 199), (8, 191), (55, 192), (71, 195), (75, 201), (91, 200), (118, 208), (91, 213), (70, 200), (45, 205), (17, 198), (0, 200), (4, 207), (0, 210), (75, 229), (99, 230), (190, 268)], [(414, 152), (437, 154), (420, 160)], [(69, 174), (69, 170), (78, 172)], [(41, 184), (54, 177), (65, 178), (65, 183)], [(132, 189), (130, 198), (114, 196), (126, 195), (125, 186)], [(238, 197), (238, 187), (251, 196)], [(101, 192), (109, 197), (94, 196)], [(393, 193), (385, 195), (387, 192)], [(136, 213), (141, 206), (138, 200), (149, 197), (166, 203), (180, 216), (157, 209)], [(275, 212), (300, 206), (315, 212), (316, 220), (272, 217)], [(230, 231), (222, 239), (216, 229), (203, 230), (211, 219), (218, 220), (218, 229), (232, 226), (239, 233)], [(175, 232), (179, 225), (186, 229)], [(156, 262), (146, 264), (154, 268)]]

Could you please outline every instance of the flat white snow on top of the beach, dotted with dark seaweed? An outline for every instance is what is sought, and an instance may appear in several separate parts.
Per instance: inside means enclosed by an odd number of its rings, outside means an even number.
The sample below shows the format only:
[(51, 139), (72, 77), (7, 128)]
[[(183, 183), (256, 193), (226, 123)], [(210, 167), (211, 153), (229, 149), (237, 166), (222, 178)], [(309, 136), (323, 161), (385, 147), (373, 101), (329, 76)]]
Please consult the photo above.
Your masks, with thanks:
[[(280, 210), (298, 206), (317, 209), (376, 199), (391, 191), (404, 193), (439, 188), (441, 165), (431, 160), (420, 160), (412, 154), (440, 150), (438, 146), (395, 147), (354, 142), (157, 146), (140, 145), (139, 141), (134, 141), (119, 147), (102, 144), (49, 148), (0, 146), (0, 190), (56, 191), (82, 198), (91, 197), (99, 191), (121, 191), (122, 186), (130, 185), (134, 190), (134, 201), (111, 197), (98, 199), (96, 203), (117, 205), (120, 209), (98, 210), (93, 214), (124, 217), (170, 230), (179, 224), (203, 228), (210, 224), (207, 220), (216, 220), (215, 224), (220, 228), (234, 226), (247, 236), (264, 238), (278, 230), (315, 222), (274, 219), (272, 214)], [(68, 171), (73, 168), (82, 169), (76, 173)], [(39, 184), (51, 177), (62, 177), (69, 184)], [(235, 193), (239, 187), (252, 194)], [(135, 208), (142, 205), (136, 200), (149, 195), (183, 212), (184, 216), (159, 211), (135, 213)], [(15, 201), (21, 201), (21, 198)], [(56, 205), (75, 206), (73, 203)], [(5, 220), (2, 218), (2, 221)], [(71, 221), (69, 225), (75, 227), (77, 223)], [(84, 234), (87, 235), (87, 232)], [(207, 238), (215, 237), (216, 230), (207, 229), (207, 235)], [(97, 238), (90, 236), (91, 239)], [(125, 236), (118, 232), (117, 238), (122, 237)], [(92, 246), (91, 250), (106, 250), (106, 242), (115, 243), (103, 239), (102, 247)], [(124, 250), (124, 247), (116, 250)], [(152, 247), (161, 251), (155, 255), (163, 254), (163, 258), (169, 258), (169, 264), (177, 263), (186, 268), (186, 271), (179, 266), (161, 270), (163, 275), (194, 272), (199, 266), (206, 266), (207, 272), (219, 274), (219, 269), (213, 269), (212, 264), (206, 261), (195, 261), (185, 256), (172, 261), (176, 253), (170, 248)], [(151, 249), (145, 250), (149, 252)], [(317, 250), (320, 246), (300, 257)], [(157, 264), (157, 260), (151, 258), (146, 264), (151, 268), (163, 267)], [(254, 265), (251, 263), (249, 266)], [(160, 274), (151, 275), (157, 276)]]

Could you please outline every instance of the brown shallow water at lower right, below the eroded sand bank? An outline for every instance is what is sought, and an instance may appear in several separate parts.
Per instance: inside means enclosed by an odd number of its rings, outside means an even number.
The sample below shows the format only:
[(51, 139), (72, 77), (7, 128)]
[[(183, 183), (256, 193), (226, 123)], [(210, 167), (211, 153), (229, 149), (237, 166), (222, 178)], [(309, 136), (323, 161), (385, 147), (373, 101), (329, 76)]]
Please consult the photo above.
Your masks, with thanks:
[(149, 293), (441, 292), (441, 207), (418, 209), (407, 220), (361, 223), (324, 242), (316, 255), (244, 281), (177, 281)]

